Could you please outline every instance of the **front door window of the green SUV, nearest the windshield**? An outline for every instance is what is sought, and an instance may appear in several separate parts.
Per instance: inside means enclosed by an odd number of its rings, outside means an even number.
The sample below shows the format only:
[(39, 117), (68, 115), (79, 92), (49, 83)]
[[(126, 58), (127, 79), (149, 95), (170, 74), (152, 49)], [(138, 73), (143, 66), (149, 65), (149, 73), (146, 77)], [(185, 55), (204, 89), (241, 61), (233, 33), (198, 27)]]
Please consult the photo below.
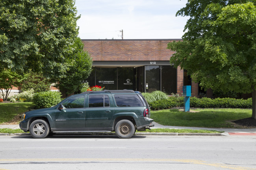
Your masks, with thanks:
[(63, 106), (69, 108), (83, 108), (85, 96), (74, 96), (63, 102)]

